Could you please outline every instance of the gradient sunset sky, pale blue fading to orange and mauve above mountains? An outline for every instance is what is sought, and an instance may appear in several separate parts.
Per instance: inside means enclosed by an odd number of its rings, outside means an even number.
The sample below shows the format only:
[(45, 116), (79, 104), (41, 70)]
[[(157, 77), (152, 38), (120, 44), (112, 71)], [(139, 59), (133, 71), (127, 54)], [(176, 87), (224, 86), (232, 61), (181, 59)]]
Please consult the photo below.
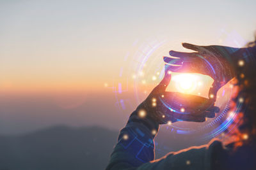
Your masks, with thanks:
[[(56, 124), (120, 129), (138, 104), (132, 52), (156, 39), (168, 40), (165, 55), (186, 51), (184, 41), (243, 46), (253, 40), (255, 6), (234, 0), (0, 1), (0, 134)], [(156, 63), (162, 66), (161, 57)], [(119, 81), (127, 83), (125, 110), (111, 89)]]

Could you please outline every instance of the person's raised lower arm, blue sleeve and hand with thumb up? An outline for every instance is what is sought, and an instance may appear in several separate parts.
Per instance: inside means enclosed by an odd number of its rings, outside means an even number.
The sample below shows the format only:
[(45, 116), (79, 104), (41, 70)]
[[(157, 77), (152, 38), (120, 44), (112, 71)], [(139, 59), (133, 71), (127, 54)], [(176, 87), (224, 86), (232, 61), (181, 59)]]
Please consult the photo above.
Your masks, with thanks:
[[(111, 154), (106, 169), (163, 169), (163, 167), (170, 167), (168, 162), (170, 162), (171, 157), (150, 162), (154, 160), (154, 138), (159, 124), (166, 124), (169, 121), (177, 122), (178, 120), (202, 122), (209, 114), (212, 115), (216, 112), (216, 107), (211, 106), (209, 108), (209, 104), (212, 103), (209, 99), (205, 101), (202, 97), (180, 96), (180, 94), (173, 92), (165, 92), (170, 83), (171, 75), (168, 73), (168, 68), (165, 68), (164, 73), (163, 80), (131, 114), (127, 125), (120, 131), (118, 143)], [(186, 115), (179, 114), (179, 111), (176, 113), (165, 104), (172, 103), (172, 101), (189, 100), (191, 97), (193, 100), (186, 104), (188, 108), (198, 108), (198, 103), (202, 102), (207, 108), (199, 107), (202, 111), (198, 112), (196, 109), (196, 114)]]

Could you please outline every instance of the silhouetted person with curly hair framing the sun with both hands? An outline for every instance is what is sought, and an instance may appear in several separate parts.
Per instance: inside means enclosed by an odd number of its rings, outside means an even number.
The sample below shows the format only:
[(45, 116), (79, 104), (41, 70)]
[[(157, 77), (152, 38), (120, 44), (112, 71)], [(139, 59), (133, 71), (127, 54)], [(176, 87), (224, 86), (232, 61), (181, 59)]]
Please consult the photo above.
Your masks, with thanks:
[[(166, 67), (163, 80), (131, 114), (127, 125), (120, 131), (118, 143), (111, 154), (111, 159), (106, 169), (256, 168), (256, 46), (231, 48), (227, 46), (197, 46), (188, 43), (184, 43), (183, 46), (196, 52), (183, 53), (171, 51), (170, 55), (179, 57), (179, 59), (164, 57), (164, 61), (168, 62), (170, 66)], [(204, 62), (211, 62), (209, 65), (213, 71), (205, 68)], [(173, 66), (172, 64), (181, 65)], [(214, 83), (209, 91), (209, 97), (212, 98), (209, 99), (209, 103), (216, 101), (216, 93), (221, 86), (236, 77), (237, 87), (239, 87), (240, 91), (239, 96), (235, 96), (233, 100), (237, 103), (237, 97), (240, 96), (246, 99), (241, 110), (244, 112), (244, 124), (239, 125), (239, 130), (246, 132), (247, 137), (245, 136), (241, 139), (239, 131), (235, 131), (237, 139), (226, 146), (223, 146), (221, 141), (212, 141), (209, 145), (191, 147), (177, 153), (169, 153), (162, 159), (154, 160), (154, 138), (159, 129), (159, 124), (166, 124), (168, 122), (166, 120), (174, 120), (174, 122), (203, 122), (203, 118), (207, 117), (205, 111), (210, 109), (210, 113), (218, 112), (212, 104), (203, 111), (193, 111), (193, 108), (198, 107), (196, 104), (191, 104), (189, 105), (191, 112), (185, 115), (179, 113), (178, 115), (180, 116), (175, 114), (178, 111), (168, 110), (170, 105), (166, 106), (160, 97), (164, 94), (164, 90), (170, 82), (170, 75), (167, 74), (168, 71), (190, 71), (192, 73), (204, 73), (212, 76)], [(173, 94), (167, 95), (172, 96)], [(211, 95), (214, 97), (211, 97)], [(164, 96), (166, 96), (166, 93)], [(173, 97), (167, 98), (171, 99), (167, 103), (176, 102), (173, 100)], [(161, 102), (157, 103), (159, 100)], [(183, 99), (182, 101), (185, 100)], [(198, 105), (200, 104), (198, 103)], [(232, 107), (236, 107), (236, 104)], [(142, 113), (141, 110), (143, 111)], [(196, 111), (199, 111), (199, 114), (195, 114)]]

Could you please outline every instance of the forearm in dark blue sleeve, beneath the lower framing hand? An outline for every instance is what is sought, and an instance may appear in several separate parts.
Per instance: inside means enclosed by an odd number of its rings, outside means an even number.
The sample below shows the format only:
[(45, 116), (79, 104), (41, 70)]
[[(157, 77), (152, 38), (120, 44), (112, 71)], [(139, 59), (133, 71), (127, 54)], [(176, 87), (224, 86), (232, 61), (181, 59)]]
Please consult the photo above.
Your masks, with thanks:
[(120, 131), (107, 169), (135, 169), (154, 160), (154, 137), (159, 125), (148, 118), (141, 118), (134, 111), (127, 125)]

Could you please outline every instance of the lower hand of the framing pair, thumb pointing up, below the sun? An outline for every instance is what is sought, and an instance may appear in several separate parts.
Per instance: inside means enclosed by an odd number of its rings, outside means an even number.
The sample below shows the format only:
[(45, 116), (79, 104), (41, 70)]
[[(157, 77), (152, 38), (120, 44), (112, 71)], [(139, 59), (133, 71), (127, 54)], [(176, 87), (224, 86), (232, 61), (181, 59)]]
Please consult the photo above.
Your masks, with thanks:
[(205, 117), (215, 117), (215, 113), (220, 110), (214, 106), (214, 101), (200, 96), (166, 92), (171, 80), (171, 74), (167, 70), (159, 85), (138, 106), (139, 117), (151, 118), (158, 124), (177, 121), (204, 122)]

